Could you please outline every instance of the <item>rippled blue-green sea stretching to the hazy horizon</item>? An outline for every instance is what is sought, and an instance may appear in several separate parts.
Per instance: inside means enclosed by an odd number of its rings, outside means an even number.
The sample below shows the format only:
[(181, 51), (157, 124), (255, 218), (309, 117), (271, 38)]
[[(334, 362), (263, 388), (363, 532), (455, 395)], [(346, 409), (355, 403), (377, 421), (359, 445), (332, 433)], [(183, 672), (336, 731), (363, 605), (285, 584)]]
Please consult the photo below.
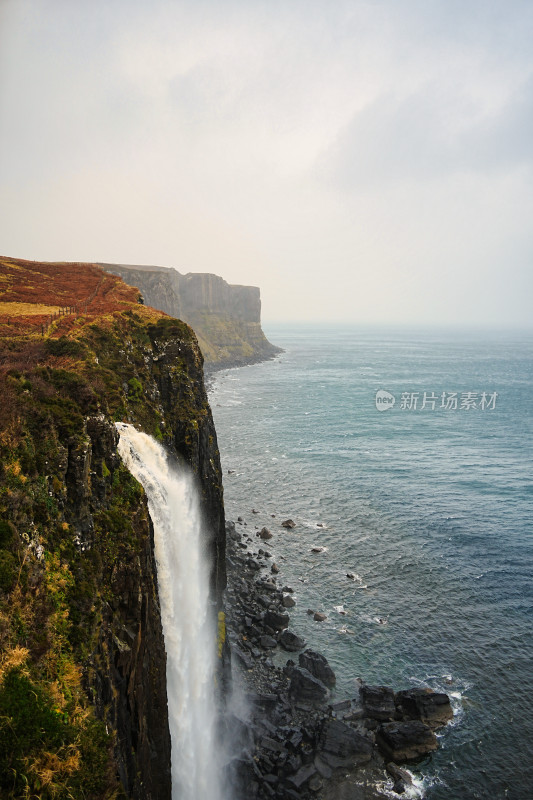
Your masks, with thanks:
[(273, 533), (335, 699), (359, 679), (448, 693), (414, 796), (531, 800), (533, 332), (266, 334), (284, 352), (210, 390), (226, 517)]

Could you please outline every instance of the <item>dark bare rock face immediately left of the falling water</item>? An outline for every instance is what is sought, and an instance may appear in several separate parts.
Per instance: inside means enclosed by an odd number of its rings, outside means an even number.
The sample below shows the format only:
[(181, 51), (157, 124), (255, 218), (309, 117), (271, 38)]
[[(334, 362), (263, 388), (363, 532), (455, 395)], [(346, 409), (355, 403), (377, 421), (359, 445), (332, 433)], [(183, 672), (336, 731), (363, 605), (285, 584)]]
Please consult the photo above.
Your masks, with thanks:
[[(121, 525), (118, 508), (110, 503), (114, 484), (125, 480), (116, 428), (99, 414), (86, 420), (84, 434), (81, 446), (69, 447), (65, 519), (81, 550), (75, 579), (83, 586), (96, 577), (105, 586), (100, 624), (83, 663), (84, 682), (98, 716), (115, 732), (114, 761), (125, 795), (170, 798), (166, 655), (146, 498), (133, 492), (130, 508), (121, 504), (127, 520)], [(96, 575), (87, 560), (97, 561)], [(86, 632), (85, 602), (72, 599), (80, 636)]]

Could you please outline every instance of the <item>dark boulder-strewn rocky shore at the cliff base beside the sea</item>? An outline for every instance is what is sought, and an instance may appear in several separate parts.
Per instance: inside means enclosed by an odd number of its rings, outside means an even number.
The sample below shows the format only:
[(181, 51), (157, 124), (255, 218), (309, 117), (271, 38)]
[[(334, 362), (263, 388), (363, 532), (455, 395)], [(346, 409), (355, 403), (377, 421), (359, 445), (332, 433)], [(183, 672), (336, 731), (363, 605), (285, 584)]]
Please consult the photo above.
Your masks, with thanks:
[[(286, 527), (292, 521), (287, 520)], [(403, 764), (438, 747), (453, 717), (446, 694), (361, 683), (332, 701), (327, 659), (290, 627), (293, 590), (279, 581), (270, 532), (226, 524), (226, 631), (234, 696), (223, 722), (225, 778), (237, 800), (377, 800), (408, 790)], [(273, 653), (285, 652), (285, 666)], [(277, 659), (279, 660), (279, 659)]]

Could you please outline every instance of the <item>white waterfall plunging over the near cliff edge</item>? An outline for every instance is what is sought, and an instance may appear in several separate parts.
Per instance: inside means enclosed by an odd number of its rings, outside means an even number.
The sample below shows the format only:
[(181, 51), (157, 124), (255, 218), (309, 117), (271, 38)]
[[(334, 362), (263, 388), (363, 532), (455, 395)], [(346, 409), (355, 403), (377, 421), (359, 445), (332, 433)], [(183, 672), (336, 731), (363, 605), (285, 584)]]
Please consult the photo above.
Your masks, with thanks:
[(215, 633), (202, 520), (192, 475), (131, 425), (117, 423), (118, 452), (143, 485), (154, 527), (167, 652), (173, 800), (220, 800), (214, 698)]

